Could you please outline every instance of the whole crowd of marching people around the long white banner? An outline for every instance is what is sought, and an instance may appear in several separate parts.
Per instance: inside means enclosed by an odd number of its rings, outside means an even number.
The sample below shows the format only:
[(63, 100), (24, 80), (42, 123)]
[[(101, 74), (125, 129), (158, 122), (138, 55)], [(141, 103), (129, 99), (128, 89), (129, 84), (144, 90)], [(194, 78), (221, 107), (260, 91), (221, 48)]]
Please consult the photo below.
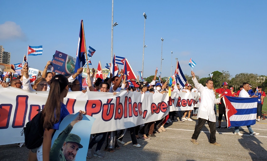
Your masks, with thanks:
[[(69, 112), (66, 108), (66, 105), (63, 102), (64, 97), (67, 96), (68, 92), (72, 91), (81, 91), (86, 93), (88, 91), (95, 91), (95, 92), (110, 92), (113, 95), (116, 95), (121, 90), (127, 90), (128, 92), (140, 92), (142, 94), (145, 93), (168, 93), (169, 88), (172, 88), (171, 91), (181, 93), (181, 92), (195, 92), (198, 93), (200, 99), (195, 104), (194, 109), (188, 111), (172, 111), (166, 117), (162, 118), (161, 120), (153, 121), (150, 123), (145, 123), (142, 125), (138, 125), (129, 129), (121, 129), (117, 131), (110, 131), (105, 133), (95, 133), (92, 134), (92, 139), (90, 140), (87, 157), (91, 158), (93, 156), (104, 157), (104, 153), (101, 152), (101, 148), (103, 147), (105, 140), (106, 144), (104, 145), (104, 151), (106, 152), (115, 152), (114, 149), (120, 149), (120, 144), (125, 144), (123, 141), (123, 136), (127, 131), (130, 132), (130, 136), (132, 139), (132, 144), (136, 148), (142, 147), (138, 140), (150, 140), (151, 138), (156, 137), (157, 133), (166, 132), (164, 125), (168, 123), (172, 123), (175, 121), (185, 122), (185, 121), (193, 121), (191, 119), (192, 116), (197, 116), (199, 118), (199, 126), (196, 126), (195, 132), (192, 136), (191, 141), (194, 144), (199, 144), (197, 141), (198, 135), (200, 133), (201, 128), (203, 127), (204, 123), (208, 121), (209, 126), (211, 126), (211, 138), (210, 143), (216, 146), (220, 146), (221, 144), (216, 143), (215, 139), (215, 123), (213, 119), (215, 117), (209, 118), (210, 115), (215, 116), (217, 114), (216, 104), (218, 104), (218, 121), (219, 126), (217, 129), (221, 129), (221, 121), (222, 116), (224, 115), (226, 118), (226, 108), (221, 99), (223, 96), (231, 96), (231, 97), (252, 97), (258, 98), (258, 106), (257, 106), (257, 118), (256, 121), (260, 121), (261, 117), (261, 108), (264, 101), (264, 97), (266, 96), (265, 93), (262, 91), (260, 86), (256, 88), (252, 88), (252, 86), (248, 83), (243, 83), (240, 86), (240, 90), (237, 93), (234, 92), (233, 87), (228, 88), (229, 84), (226, 82), (222, 83), (222, 88), (214, 89), (212, 80), (208, 80), (206, 82), (206, 87), (199, 84), (197, 80), (193, 76), (194, 84), (185, 84), (183, 89), (180, 88), (180, 85), (177, 83), (175, 86), (169, 87), (167, 85), (168, 81), (162, 82), (161, 80), (157, 80), (157, 70), (155, 71), (155, 75), (152, 82), (139, 82), (139, 78), (126, 80), (126, 76), (124, 75), (124, 71), (121, 70), (119, 76), (106, 78), (102, 80), (101, 78), (95, 77), (95, 69), (93, 68), (92, 71), (90, 69), (86, 70), (87, 73), (87, 88), (81, 88), (81, 83), (76, 79), (78, 75), (83, 72), (83, 68), (77, 70), (76, 73), (71, 75), (69, 78), (65, 77), (61, 74), (55, 74), (53, 72), (48, 72), (47, 68), (50, 65), (51, 61), (48, 61), (43, 73), (38, 75), (38, 78), (35, 80), (34, 84), (31, 85), (30, 78), (29, 78), (29, 67), (28, 64), (25, 64), (21, 71), (21, 76), (14, 77), (14, 75), (10, 72), (4, 75), (1, 79), (1, 86), (6, 88), (8, 86), (14, 88), (21, 88), (25, 91), (49, 91), (49, 95), (46, 101), (46, 105), (42, 111), (42, 120), (43, 120), (43, 128), (44, 128), (44, 138), (43, 144), (41, 148), (30, 149), (29, 152), (29, 160), (49, 160), (49, 151), (51, 147), (51, 140), (55, 130), (58, 130), (60, 122), (65, 118)], [(92, 73), (91, 73), (92, 72)], [(212, 85), (211, 85), (212, 84)], [(247, 92), (248, 91), (248, 92)], [(213, 95), (213, 104), (208, 103), (209, 99), (206, 95)], [(216, 99), (216, 94), (218, 94), (219, 98)], [(201, 103), (203, 102), (203, 103)], [(209, 106), (214, 110), (209, 111), (208, 115), (204, 115), (203, 112), (199, 112), (199, 104), (200, 106), (203, 105), (205, 102), (208, 103)], [(211, 101), (212, 102), (212, 101)], [(53, 113), (55, 115), (53, 116)], [(75, 118), (73, 122), (70, 123), (70, 126), (73, 125), (79, 120), (81, 120), (82, 115), (86, 114), (84, 111), (79, 111), (80, 115), (78, 118)], [(52, 116), (52, 117), (51, 117)], [(206, 118), (207, 117), (207, 118)], [(252, 130), (250, 126), (247, 126), (249, 133), (251, 136), (259, 135)], [(229, 127), (224, 127), (228, 129)], [(238, 130), (239, 127), (235, 127), (234, 134), (242, 135), (242, 133)], [(93, 150), (93, 146), (97, 144), (96, 148)], [(42, 153), (40, 153), (42, 151)]]

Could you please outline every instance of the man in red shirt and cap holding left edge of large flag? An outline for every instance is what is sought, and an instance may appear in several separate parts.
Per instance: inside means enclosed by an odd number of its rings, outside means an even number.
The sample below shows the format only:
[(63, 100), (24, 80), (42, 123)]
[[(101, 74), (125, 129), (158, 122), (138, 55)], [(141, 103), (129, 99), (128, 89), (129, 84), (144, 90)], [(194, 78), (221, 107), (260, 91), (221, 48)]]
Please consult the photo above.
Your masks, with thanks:
[[(222, 83), (222, 88), (218, 88), (218, 89), (213, 89), (214, 92), (216, 93), (219, 93), (219, 97), (221, 96), (232, 96), (232, 92), (230, 91), (230, 89), (228, 89), (228, 83), (227, 82), (224, 82)], [(226, 108), (225, 108), (225, 105), (224, 105), (224, 102), (223, 102), (223, 99), (221, 99), (221, 103), (219, 104), (219, 117), (218, 117), (218, 121), (219, 121), (219, 127), (218, 129), (221, 129), (221, 120), (222, 120), (222, 115), (224, 114), (224, 117), (225, 117), (225, 120), (227, 122), (227, 118), (226, 118)], [(227, 126), (225, 127), (226, 129), (228, 128)]]

